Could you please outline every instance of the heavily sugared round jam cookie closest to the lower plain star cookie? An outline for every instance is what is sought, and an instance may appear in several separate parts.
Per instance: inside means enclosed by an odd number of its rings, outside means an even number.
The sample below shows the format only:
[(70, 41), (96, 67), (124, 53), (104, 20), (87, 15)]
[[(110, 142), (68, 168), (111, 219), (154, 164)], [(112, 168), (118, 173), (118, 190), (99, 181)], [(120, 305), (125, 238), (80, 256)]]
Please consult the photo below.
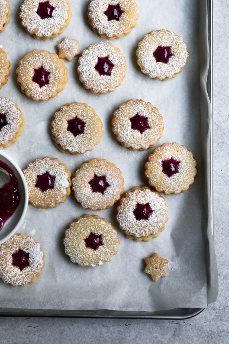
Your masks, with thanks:
[(127, 238), (150, 241), (164, 230), (167, 212), (164, 197), (147, 186), (136, 186), (119, 200), (116, 219)]

